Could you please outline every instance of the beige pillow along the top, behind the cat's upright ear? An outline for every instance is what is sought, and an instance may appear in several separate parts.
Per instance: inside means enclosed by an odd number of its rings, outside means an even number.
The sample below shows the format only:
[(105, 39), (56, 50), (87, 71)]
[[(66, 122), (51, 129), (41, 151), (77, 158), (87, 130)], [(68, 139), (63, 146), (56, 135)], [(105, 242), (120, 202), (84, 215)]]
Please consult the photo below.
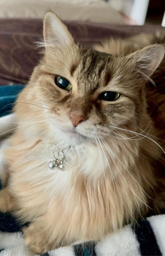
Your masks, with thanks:
[(124, 24), (102, 0), (0, 0), (0, 18), (43, 18), (51, 9), (63, 20)]

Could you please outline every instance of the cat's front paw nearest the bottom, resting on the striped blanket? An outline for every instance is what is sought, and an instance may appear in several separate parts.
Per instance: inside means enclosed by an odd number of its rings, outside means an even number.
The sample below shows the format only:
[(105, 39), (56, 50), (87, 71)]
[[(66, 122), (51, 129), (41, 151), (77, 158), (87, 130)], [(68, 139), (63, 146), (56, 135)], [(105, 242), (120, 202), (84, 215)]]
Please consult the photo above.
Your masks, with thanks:
[(31, 223), (28, 227), (24, 227), (23, 234), (24, 242), (27, 246), (30, 247), (32, 252), (41, 254), (49, 251), (49, 243), (47, 237), (35, 222)]

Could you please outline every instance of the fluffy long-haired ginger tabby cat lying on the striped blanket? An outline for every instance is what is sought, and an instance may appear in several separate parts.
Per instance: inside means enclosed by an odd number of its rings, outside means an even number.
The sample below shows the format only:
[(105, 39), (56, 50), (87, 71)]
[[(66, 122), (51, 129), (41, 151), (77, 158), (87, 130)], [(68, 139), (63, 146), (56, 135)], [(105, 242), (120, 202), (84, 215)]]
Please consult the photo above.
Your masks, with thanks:
[(0, 192), (0, 210), (30, 222), (23, 233), (35, 253), (99, 240), (158, 212), (165, 194), (163, 131), (147, 105), (164, 45), (151, 36), (86, 49), (51, 11), (43, 34), (43, 58), (14, 107)]

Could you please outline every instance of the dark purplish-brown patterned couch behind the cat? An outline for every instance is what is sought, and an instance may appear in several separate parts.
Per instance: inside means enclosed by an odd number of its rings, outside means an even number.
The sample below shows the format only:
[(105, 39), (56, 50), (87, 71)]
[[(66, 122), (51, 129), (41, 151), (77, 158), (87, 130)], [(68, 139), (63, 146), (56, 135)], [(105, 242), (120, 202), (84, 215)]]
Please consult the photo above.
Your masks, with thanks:
[[(108, 37), (126, 37), (138, 33), (165, 31), (159, 26), (107, 25), (65, 22), (76, 41), (90, 47)], [(42, 38), (40, 19), (0, 20), (0, 85), (28, 82), (40, 58), (35, 42)]]

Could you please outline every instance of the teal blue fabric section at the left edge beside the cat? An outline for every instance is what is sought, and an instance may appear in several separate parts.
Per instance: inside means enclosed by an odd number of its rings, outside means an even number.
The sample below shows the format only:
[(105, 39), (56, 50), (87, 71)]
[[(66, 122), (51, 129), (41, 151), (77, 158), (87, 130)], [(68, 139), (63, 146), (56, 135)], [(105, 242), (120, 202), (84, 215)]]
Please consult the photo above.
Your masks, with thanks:
[(11, 113), (13, 103), (25, 85), (0, 86), (0, 117)]

